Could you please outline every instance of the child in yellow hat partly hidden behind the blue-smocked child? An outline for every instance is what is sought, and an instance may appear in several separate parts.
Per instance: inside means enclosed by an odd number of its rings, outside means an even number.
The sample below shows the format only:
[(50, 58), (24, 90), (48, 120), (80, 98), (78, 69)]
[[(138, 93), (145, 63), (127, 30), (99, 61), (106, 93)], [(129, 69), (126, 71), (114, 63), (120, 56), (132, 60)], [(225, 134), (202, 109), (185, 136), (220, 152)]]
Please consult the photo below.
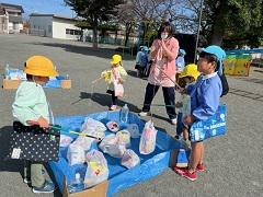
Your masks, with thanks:
[(187, 65), (184, 68), (183, 72), (179, 76), (179, 78), (182, 78), (186, 83), (186, 86), (185, 86), (186, 92), (181, 92), (180, 100), (175, 104), (175, 107), (179, 108), (175, 138), (180, 139), (183, 132), (183, 139), (186, 142), (188, 141), (188, 130), (184, 126), (182, 120), (183, 120), (183, 117), (191, 114), (191, 97), (187, 94), (187, 92), (191, 92), (193, 90), (193, 86), (198, 76), (199, 76), (199, 72), (197, 70), (197, 65), (194, 65), (194, 63)]

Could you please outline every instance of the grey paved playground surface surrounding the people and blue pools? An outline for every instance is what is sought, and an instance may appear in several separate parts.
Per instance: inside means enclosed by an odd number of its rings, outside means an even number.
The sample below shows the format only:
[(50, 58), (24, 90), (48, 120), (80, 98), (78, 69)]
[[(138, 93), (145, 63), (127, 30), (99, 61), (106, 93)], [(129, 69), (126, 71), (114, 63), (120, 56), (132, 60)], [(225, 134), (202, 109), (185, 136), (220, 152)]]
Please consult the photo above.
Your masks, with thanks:
[[(107, 111), (111, 99), (105, 94), (105, 82), (99, 81), (92, 88), (91, 81), (108, 68), (115, 53), (112, 46), (100, 46), (101, 49), (93, 51), (87, 43), (3, 34), (0, 34), (0, 46), (2, 70), (7, 63), (11, 68), (23, 68), (30, 56), (44, 55), (54, 61), (60, 74), (69, 74), (72, 89), (46, 89), (55, 116)], [(126, 95), (118, 104), (123, 106), (128, 103), (130, 111), (137, 113), (141, 108), (147, 82), (135, 77), (134, 65), (134, 60), (125, 55), (124, 67), (129, 77), (125, 83)], [(167, 169), (162, 174), (126, 188), (114, 197), (263, 196), (263, 73), (256, 70), (262, 71), (253, 67), (248, 78), (228, 78), (230, 93), (221, 99), (228, 106), (227, 135), (205, 141), (206, 171), (198, 173), (196, 182), (190, 182)], [(61, 194), (58, 190), (49, 195), (33, 194), (22, 181), (22, 162), (3, 161), (13, 121), (11, 105), (14, 94), (15, 90), (0, 89), (0, 197), (59, 197)], [(161, 92), (155, 102), (163, 103)], [(156, 127), (174, 135), (174, 127), (169, 123), (164, 108), (155, 107), (153, 113)]]

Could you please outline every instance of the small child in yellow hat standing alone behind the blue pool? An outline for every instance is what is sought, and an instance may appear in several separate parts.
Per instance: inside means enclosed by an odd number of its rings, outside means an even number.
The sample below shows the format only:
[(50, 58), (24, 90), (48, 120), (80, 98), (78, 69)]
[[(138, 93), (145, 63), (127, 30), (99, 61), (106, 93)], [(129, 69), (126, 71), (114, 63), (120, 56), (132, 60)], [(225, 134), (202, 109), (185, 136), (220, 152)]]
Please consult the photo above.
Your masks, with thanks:
[[(112, 94), (112, 106), (110, 107), (110, 111), (116, 111), (117, 109), (117, 95), (121, 96), (116, 92), (117, 85), (122, 84), (124, 80), (127, 77), (126, 70), (123, 68), (122, 57), (119, 55), (114, 55), (111, 60), (111, 70), (110, 71), (103, 71), (102, 77), (106, 80), (108, 78), (108, 86), (107, 86), (107, 93)], [(107, 74), (106, 74), (107, 73)]]

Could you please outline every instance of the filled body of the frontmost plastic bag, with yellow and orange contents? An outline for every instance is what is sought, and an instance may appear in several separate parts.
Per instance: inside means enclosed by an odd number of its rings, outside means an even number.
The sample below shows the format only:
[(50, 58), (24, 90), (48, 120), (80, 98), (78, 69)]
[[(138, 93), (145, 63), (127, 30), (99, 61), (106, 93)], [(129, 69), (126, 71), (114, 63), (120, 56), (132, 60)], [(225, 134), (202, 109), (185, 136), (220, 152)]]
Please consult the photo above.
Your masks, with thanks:
[(108, 177), (107, 166), (105, 167), (102, 164), (93, 161), (88, 163), (84, 177), (84, 184), (87, 188), (106, 181), (107, 177)]

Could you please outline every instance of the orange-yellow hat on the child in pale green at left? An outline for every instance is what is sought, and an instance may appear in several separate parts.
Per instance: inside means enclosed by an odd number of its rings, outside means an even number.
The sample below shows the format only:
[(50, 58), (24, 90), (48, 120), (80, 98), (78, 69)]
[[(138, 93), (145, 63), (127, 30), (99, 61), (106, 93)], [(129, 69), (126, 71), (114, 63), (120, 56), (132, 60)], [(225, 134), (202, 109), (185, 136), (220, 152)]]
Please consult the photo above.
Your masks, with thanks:
[(44, 56), (32, 56), (25, 61), (24, 72), (32, 76), (57, 77), (53, 62)]

